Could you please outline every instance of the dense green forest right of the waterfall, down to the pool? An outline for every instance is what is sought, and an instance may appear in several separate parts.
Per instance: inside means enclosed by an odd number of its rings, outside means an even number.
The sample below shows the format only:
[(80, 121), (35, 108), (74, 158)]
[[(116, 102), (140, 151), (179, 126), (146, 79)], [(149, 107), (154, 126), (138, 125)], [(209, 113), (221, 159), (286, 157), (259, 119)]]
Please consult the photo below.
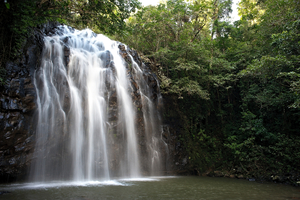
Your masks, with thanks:
[(299, 173), (300, 4), (242, 0), (233, 24), (226, 21), (231, 4), (144, 7), (118, 39), (157, 66), (172, 99), (164, 115), (170, 123), (180, 118), (191, 171)]

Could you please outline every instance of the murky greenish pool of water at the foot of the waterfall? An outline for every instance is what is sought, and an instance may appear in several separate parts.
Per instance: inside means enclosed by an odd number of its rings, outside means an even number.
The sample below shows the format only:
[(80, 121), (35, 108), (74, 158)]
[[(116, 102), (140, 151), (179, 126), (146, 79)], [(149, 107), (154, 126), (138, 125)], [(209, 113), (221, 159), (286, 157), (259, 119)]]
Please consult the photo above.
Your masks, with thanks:
[(0, 199), (245, 199), (300, 200), (300, 188), (211, 177), (148, 177), (89, 182), (0, 185)]

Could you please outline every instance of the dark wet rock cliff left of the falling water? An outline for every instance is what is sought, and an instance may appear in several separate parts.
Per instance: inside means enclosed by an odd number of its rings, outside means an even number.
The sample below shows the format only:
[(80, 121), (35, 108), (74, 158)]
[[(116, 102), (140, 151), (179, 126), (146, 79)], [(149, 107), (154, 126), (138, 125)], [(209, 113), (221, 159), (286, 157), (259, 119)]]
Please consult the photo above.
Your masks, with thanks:
[(0, 87), (0, 182), (22, 178), (27, 173), (34, 147), (35, 98), (33, 75), (45, 33), (57, 24), (35, 30), (18, 60), (6, 63), (6, 82)]

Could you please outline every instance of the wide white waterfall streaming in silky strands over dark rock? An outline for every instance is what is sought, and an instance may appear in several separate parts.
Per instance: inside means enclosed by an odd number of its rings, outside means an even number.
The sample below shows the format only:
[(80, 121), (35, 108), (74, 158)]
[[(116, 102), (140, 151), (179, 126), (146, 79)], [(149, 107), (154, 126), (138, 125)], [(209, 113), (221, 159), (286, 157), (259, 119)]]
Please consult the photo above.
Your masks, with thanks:
[(158, 81), (129, 52), (89, 29), (60, 26), (44, 38), (34, 77), (31, 181), (108, 180), (163, 170)]

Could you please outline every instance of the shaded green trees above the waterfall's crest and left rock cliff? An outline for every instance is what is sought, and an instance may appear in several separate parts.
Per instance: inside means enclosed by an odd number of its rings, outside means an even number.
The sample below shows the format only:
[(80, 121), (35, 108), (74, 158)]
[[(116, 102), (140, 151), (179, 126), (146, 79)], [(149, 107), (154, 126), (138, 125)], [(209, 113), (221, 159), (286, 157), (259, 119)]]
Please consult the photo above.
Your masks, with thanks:
[(137, 0), (4, 0), (0, 3), (0, 85), (5, 81), (5, 63), (18, 59), (32, 29), (48, 21), (75, 28), (92, 26), (103, 33), (125, 27), (125, 19), (138, 8)]

